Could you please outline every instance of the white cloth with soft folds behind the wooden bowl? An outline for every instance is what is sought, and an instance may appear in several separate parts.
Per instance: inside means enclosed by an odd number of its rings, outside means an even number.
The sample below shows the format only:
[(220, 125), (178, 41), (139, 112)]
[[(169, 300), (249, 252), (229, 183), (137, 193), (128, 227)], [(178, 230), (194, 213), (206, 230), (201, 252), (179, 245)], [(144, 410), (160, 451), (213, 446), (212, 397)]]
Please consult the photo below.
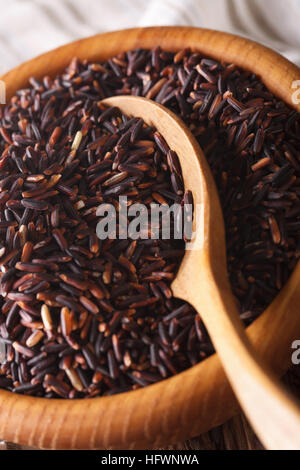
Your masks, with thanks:
[(300, 65), (300, 0), (0, 0), (0, 74), (77, 38), (134, 26), (244, 35)]

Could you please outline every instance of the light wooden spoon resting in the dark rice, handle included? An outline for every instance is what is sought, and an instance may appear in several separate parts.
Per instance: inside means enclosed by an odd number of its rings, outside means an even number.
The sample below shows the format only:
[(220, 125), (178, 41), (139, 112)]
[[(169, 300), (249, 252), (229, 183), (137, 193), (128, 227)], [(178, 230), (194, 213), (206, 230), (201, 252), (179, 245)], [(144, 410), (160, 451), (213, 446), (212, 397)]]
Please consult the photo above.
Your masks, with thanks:
[(232, 388), (263, 444), (269, 449), (300, 449), (300, 408), (257, 357), (239, 319), (228, 280), (217, 189), (196, 139), (175, 114), (154, 101), (117, 96), (103, 103), (141, 117), (177, 152), (185, 189), (194, 197), (195, 241), (187, 246), (172, 283), (173, 293), (201, 315)]

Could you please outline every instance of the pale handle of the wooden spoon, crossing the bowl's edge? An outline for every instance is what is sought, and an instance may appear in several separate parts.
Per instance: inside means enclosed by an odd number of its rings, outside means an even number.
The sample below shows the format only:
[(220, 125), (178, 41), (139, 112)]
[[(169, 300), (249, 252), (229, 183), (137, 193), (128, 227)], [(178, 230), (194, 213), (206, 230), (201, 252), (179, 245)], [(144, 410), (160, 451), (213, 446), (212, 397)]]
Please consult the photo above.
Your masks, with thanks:
[(219, 353), (232, 388), (268, 449), (300, 449), (300, 407), (251, 346), (227, 281), (201, 281), (193, 305)]

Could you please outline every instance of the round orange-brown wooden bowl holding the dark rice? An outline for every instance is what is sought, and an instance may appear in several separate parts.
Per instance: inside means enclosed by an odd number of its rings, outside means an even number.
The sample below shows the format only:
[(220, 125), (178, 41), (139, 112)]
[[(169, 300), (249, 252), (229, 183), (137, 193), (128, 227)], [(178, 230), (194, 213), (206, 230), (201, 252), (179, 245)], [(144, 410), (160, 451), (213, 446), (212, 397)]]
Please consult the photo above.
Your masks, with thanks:
[[(73, 56), (99, 61), (129, 49), (158, 45), (169, 51), (190, 47), (233, 62), (255, 72), (271, 91), (293, 105), (292, 83), (300, 79), (295, 65), (252, 41), (188, 27), (116, 31), (60, 47), (4, 75), (7, 99), (26, 87), (30, 76), (40, 78), (61, 72)], [(300, 105), (293, 106), (300, 111)], [(299, 275), (300, 265), (272, 305), (247, 329), (257, 351), (278, 374), (290, 365), (291, 344), (300, 337), (296, 288)], [(282, 298), (286, 308), (277, 311)], [(238, 404), (214, 354), (170, 379), (111, 397), (49, 400), (0, 390), (0, 437), (50, 449), (145, 449), (196, 436), (223, 423), (237, 410)]]

